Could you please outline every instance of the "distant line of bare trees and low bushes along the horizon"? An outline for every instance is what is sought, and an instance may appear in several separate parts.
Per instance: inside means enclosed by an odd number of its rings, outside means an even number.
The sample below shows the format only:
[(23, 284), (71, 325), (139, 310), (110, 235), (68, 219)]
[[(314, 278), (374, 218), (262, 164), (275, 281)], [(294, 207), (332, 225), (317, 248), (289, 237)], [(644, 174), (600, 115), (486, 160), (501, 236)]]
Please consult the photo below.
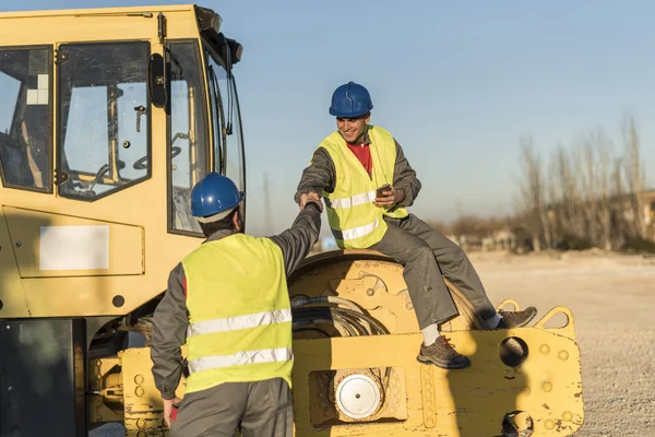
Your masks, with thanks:
[(623, 116), (620, 144), (596, 129), (569, 146), (560, 144), (544, 161), (531, 138), (520, 142), (515, 213), (507, 217), (461, 214), (450, 225), (430, 225), (461, 244), (498, 235), (513, 235), (513, 247), (524, 250), (635, 249), (655, 251), (647, 241), (644, 204), (645, 167), (634, 118)]

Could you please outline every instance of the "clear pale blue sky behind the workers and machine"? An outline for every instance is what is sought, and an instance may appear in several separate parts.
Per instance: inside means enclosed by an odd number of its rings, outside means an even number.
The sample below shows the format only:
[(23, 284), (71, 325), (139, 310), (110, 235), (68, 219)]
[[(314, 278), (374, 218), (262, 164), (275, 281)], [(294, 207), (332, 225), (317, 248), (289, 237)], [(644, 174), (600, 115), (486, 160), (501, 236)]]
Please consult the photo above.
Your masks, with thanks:
[[(94, 7), (160, 4), (94, 0)], [(297, 213), (298, 178), (335, 125), (336, 86), (366, 85), (372, 123), (403, 145), (424, 188), (413, 212), (450, 221), (511, 212), (519, 140), (547, 155), (586, 130), (617, 141), (630, 110), (655, 187), (655, 2), (216, 1), (243, 47), (236, 67), (248, 163), (249, 231)], [(82, 0), (2, 10), (84, 8)], [(264, 226), (263, 174), (272, 229)], [(325, 216), (323, 216), (325, 217)]]

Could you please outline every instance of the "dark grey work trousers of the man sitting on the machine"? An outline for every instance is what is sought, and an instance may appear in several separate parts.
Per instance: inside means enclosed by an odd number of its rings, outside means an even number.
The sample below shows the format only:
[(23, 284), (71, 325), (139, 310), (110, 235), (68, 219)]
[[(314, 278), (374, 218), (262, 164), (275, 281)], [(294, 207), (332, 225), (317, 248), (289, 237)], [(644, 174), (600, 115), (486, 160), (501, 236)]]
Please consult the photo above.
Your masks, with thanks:
[(443, 282), (448, 277), (471, 302), (483, 320), (496, 309), (464, 250), (414, 214), (405, 218), (384, 217), (388, 231), (371, 249), (402, 264), (420, 329), (443, 323), (457, 315)]

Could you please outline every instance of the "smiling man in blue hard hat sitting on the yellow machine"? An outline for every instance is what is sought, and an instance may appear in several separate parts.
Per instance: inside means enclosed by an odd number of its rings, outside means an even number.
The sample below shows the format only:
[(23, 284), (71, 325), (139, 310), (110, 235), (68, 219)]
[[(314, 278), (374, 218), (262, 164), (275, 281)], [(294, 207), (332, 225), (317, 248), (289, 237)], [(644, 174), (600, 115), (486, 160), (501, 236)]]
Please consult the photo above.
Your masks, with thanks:
[(337, 130), (314, 151), (295, 200), (302, 209), (308, 200), (323, 197), (341, 248), (373, 249), (404, 267), (424, 334), (418, 361), (446, 369), (468, 367), (468, 357), (439, 332), (440, 324), (457, 315), (442, 274), (464, 293), (488, 329), (525, 326), (536, 308), (497, 312), (462, 248), (406, 211), (421, 185), (392, 134), (369, 123), (372, 108), (366, 87), (349, 82), (336, 88), (330, 115), (336, 117)]

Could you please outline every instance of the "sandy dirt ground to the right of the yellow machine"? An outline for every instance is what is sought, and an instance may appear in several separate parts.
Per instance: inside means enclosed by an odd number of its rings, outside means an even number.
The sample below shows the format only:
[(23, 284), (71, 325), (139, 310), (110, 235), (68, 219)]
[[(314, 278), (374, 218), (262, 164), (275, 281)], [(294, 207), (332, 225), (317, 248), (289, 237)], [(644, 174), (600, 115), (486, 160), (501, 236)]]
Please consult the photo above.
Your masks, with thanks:
[(472, 253), (492, 302), (539, 316), (568, 306), (582, 353), (585, 423), (576, 437), (655, 436), (655, 259)]

